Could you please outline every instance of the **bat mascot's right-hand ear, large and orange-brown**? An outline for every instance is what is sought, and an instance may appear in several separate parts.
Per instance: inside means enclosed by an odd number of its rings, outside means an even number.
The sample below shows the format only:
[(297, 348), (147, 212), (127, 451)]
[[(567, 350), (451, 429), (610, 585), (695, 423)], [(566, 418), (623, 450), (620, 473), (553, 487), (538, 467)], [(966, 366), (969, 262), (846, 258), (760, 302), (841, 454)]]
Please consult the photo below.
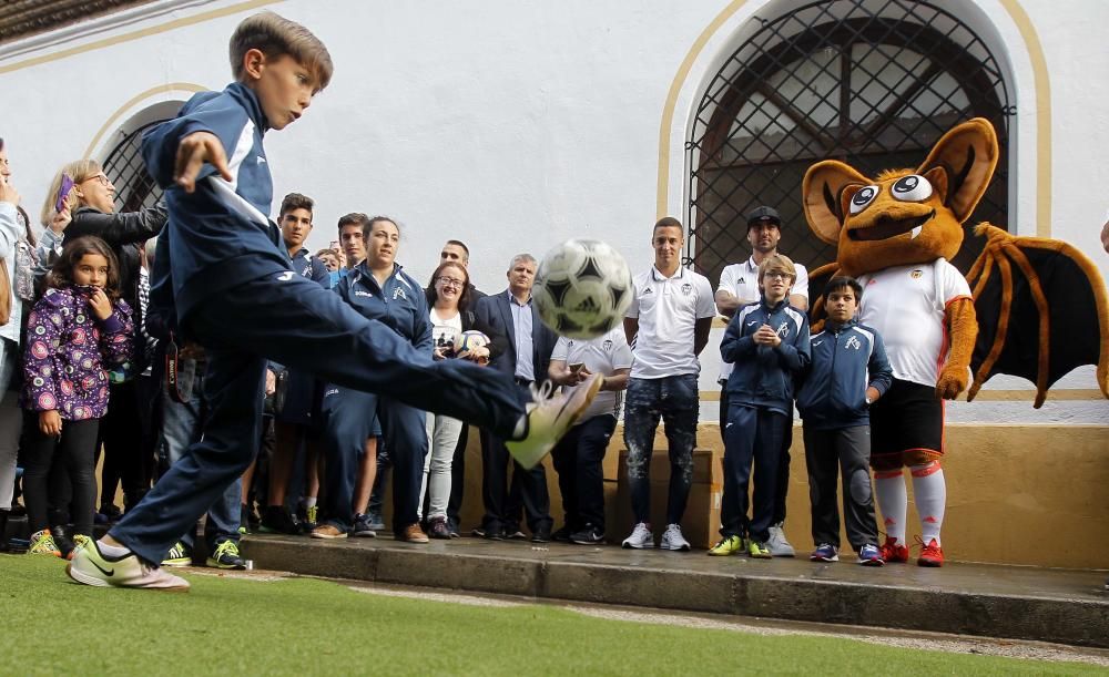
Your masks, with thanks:
[(994, 125), (983, 117), (975, 117), (944, 134), (916, 173), (928, 174), (937, 168), (944, 171), (947, 175), (944, 204), (963, 223), (986, 193), (997, 166), (997, 154)]

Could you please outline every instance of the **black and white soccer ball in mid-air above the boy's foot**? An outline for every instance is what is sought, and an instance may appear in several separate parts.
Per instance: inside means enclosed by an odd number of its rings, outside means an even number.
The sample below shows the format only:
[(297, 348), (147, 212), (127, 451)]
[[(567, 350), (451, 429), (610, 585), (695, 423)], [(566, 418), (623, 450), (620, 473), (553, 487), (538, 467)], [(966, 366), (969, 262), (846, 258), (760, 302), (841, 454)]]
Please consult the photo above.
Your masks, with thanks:
[(576, 339), (608, 334), (623, 319), (633, 294), (623, 257), (597, 239), (571, 239), (548, 252), (531, 290), (543, 324)]

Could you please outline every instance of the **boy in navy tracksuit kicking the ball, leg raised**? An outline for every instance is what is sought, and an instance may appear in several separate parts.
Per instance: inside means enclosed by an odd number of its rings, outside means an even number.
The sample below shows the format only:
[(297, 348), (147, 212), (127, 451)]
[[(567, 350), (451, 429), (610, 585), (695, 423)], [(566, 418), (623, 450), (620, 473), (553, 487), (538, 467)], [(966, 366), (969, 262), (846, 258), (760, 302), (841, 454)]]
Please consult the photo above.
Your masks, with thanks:
[(511, 377), (466, 360), (434, 361), (296, 275), (264, 216), (273, 182), (262, 137), (299, 119), (327, 86), (330, 55), (304, 27), (263, 12), (235, 30), (231, 64), (234, 83), (194, 95), (143, 140), (170, 211), (151, 301), (177, 319), (179, 335), (205, 347), (208, 417), (201, 440), (154, 489), (73, 557), (65, 571), (87, 585), (189, 588), (154, 563), (253, 460), (267, 359), (487, 429), (529, 468), (600, 389), (593, 377), (569, 398), (525, 402)]

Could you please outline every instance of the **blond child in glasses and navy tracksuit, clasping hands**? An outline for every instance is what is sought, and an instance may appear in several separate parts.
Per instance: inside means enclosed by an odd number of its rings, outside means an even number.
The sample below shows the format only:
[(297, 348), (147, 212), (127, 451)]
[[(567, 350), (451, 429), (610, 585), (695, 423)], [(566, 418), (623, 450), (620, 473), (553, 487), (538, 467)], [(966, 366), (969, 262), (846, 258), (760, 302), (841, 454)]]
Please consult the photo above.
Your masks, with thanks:
[[(752, 557), (771, 556), (766, 540), (774, 517), (782, 441), (793, 418), (793, 379), (808, 365), (808, 318), (788, 301), (796, 279), (788, 257), (775, 254), (763, 259), (759, 266), (762, 298), (736, 310), (720, 343), (721, 357), (735, 368), (728, 377), (723, 538), (710, 555), (731, 555), (745, 547)], [(752, 461), (755, 486), (749, 521)]]

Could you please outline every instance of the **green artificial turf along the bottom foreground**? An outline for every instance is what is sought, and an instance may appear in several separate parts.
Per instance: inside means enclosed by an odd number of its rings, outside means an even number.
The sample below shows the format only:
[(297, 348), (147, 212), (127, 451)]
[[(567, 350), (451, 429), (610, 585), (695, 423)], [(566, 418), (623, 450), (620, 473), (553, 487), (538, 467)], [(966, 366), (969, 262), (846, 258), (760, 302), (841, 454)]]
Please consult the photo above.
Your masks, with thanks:
[(1078, 675), (1051, 664), (386, 597), (328, 581), (185, 574), (187, 594), (73, 584), (0, 555), (0, 674)]

